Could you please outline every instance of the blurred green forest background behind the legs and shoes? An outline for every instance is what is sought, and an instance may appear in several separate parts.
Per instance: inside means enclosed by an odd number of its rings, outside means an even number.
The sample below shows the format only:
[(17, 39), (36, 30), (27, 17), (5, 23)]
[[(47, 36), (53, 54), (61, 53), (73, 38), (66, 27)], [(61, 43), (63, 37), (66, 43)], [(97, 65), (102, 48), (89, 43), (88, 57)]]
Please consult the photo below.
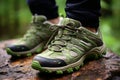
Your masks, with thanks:
[[(56, 0), (65, 16), (65, 0)], [(106, 46), (120, 54), (120, 0), (101, 0), (100, 29)], [(0, 41), (19, 38), (28, 29), (32, 14), (26, 0), (0, 0)]]

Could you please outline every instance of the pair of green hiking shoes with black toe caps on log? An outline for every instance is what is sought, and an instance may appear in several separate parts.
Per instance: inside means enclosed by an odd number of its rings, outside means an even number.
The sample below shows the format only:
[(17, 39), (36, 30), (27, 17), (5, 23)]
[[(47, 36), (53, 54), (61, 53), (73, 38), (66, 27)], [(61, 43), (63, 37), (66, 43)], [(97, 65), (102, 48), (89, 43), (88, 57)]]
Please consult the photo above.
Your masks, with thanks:
[(100, 31), (93, 33), (77, 20), (63, 18), (58, 25), (45, 16), (33, 16), (30, 29), (16, 43), (7, 46), (12, 56), (31, 56), (32, 68), (41, 72), (62, 74), (78, 70), (87, 58), (99, 58), (105, 53)]

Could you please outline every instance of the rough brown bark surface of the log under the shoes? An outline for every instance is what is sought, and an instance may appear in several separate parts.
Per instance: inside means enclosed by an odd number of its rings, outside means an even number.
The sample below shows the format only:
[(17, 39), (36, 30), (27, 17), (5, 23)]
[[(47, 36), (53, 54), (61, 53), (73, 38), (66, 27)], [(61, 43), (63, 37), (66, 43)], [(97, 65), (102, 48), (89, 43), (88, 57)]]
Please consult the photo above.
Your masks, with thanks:
[(35, 56), (13, 59), (5, 51), (5, 45), (16, 40), (0, 42), (0, 80), (120, 80), (120, 56), (113, 52), (86, 63), (71, 74), (42, 74), (31, 68)]

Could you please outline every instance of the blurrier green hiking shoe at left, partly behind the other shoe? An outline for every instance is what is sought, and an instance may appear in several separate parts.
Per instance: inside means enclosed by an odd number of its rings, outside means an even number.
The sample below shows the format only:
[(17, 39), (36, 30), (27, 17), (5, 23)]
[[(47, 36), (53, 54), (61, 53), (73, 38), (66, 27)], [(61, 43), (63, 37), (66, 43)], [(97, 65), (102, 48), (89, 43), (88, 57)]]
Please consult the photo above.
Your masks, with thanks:
[(48, 22), (45, 16), (35, 15), (23, 38), (7, 46), (6, 51), (12, 56), (31, 56), (32, 53), (39, 53), (56, 29), (57, 26)]

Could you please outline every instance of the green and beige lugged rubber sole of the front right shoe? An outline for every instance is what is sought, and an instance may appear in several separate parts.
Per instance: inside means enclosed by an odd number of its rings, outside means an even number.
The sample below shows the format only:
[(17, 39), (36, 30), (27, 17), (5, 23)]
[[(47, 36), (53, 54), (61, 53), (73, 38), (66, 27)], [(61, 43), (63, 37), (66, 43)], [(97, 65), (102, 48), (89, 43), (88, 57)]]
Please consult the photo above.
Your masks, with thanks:
[(85, 61), (90, 60), (90, 59), (96, 60), (96, 59), (100, 59), (101, 57), (103, 57), (103, 55), (106, 54), (106, 49), (102, 50), (101, 54), (96, 53), (96, 52), (97, 52), (97, 49), (96, 49), (96, 51), (94, 50), (90, 54), (88, 53), (87, 55), (83, 55), (79, 61), (72, 63), (72, 65), (70, 64), (67, 66), (56, 67), (56, 68), (54, 68), (54, 67), (51, 67), (51, 68), (50, 67), (42, 67), (38, 61), (33, 60), (32, 68), (39, 70), (40, 72), (43, 72), (43, 73), (54, 73), (54, 72), (56, 74), (63, 74), (64, 72), (65, 73), (66, 72), (72, 73), (76, 70), (79, 70), (80, 67), (82, 67), (84, 65)]

